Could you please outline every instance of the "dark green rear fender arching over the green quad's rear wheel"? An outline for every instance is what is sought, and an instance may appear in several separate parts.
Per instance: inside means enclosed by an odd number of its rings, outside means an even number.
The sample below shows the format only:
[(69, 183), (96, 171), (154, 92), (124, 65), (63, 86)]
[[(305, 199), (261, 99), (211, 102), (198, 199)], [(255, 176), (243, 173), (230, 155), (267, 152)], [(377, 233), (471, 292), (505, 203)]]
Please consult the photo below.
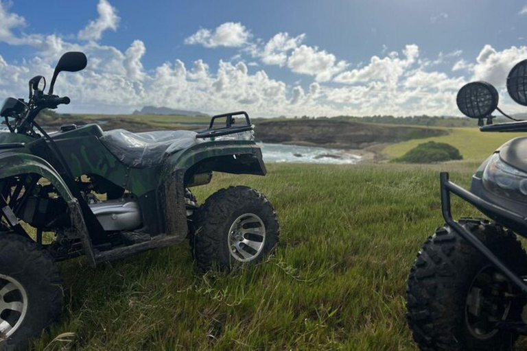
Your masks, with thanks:
[(165, 232), (187, 237), (185, 187), (196, 173), (218, 171), (235, 174), (266, 175), (261, 149), (254, 141), (214, 141), (200, 143), (167, 158), (159, 192), (165, 210)]

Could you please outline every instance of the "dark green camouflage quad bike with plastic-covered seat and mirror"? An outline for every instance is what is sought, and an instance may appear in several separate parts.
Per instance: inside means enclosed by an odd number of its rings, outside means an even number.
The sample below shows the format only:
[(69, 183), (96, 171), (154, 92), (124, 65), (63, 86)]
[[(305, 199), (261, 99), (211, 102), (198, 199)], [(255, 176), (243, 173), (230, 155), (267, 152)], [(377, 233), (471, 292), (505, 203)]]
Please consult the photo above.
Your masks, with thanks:
[(27, 347), (59, 317), (58, 261), (86, 256), (95, 266), (189, 237), (198, 267), (231, 269), (261, 261), (279, 239), (261, 193), (231, 186), (198, 206), (189, 190), (213, 171), (266, 174), (246, 112), (212, 117), (202, 132), (40, 127), (40, 111), (69, 104), (53, 94), (58, 73), (86, 62), (84, 53), (65, 53), (47, 94), (37, 76), (29, 101), (8, 98), (1, 108), (0, 349)]

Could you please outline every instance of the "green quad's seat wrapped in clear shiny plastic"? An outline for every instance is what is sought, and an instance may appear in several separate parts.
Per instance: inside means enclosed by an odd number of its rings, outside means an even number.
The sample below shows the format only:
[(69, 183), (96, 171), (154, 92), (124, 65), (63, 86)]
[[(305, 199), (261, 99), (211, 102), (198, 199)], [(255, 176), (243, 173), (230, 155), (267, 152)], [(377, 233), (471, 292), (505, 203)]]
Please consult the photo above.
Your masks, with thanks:
[(117, 129), (104, 132), (100, 141), (128, 167), (147, 168), (161, 165), (165, 155), (201, 143), (196, 134), (190, 130), (132, 133)]

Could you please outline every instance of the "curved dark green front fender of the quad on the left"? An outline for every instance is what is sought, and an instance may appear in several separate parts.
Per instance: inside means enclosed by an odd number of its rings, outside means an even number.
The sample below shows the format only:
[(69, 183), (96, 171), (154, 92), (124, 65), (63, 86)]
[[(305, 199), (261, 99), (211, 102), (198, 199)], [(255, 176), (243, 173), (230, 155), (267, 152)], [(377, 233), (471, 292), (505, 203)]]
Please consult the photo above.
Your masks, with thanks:
[(95, 265), (95, 254), (78, 199), (75, 199), (71, 194), (58, 172), (43, 158), (27, 154), (24, 151), (18, 152), (14, 150), (0, 152), (0, 170), (0, 182), (5, 178), (27, 173), (36, 173), (51, 182), (67, 203), (73, 232), (76, 237), (81, 239), (84, 253), (90, 263)]

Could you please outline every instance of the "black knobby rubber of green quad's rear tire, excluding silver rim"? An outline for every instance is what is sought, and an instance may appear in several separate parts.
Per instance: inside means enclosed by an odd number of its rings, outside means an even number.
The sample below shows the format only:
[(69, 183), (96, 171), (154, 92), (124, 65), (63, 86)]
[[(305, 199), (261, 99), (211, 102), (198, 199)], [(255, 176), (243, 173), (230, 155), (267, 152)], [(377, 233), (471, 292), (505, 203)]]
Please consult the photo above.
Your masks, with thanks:
[(280, 228), (271, 203), (264, 195), (247, 186), (231, 186), (213, 193), (196, 213), (196, 230), (190, 235), (190, 245), (192, 256), (200, 269), (207, 270), (218, 265), (220, 269), (228, 270), (242, 264), (231, 254), (229, 235), (237, 219), (244, 221), (243, 216), (246, 214), (260, 219), (261, 223), (255, 226), (263, 224), (265, 232), (263, 245), (257, 253), (251, 250), (255, 255), (248, 261), (259, 262), (274, 250)]

